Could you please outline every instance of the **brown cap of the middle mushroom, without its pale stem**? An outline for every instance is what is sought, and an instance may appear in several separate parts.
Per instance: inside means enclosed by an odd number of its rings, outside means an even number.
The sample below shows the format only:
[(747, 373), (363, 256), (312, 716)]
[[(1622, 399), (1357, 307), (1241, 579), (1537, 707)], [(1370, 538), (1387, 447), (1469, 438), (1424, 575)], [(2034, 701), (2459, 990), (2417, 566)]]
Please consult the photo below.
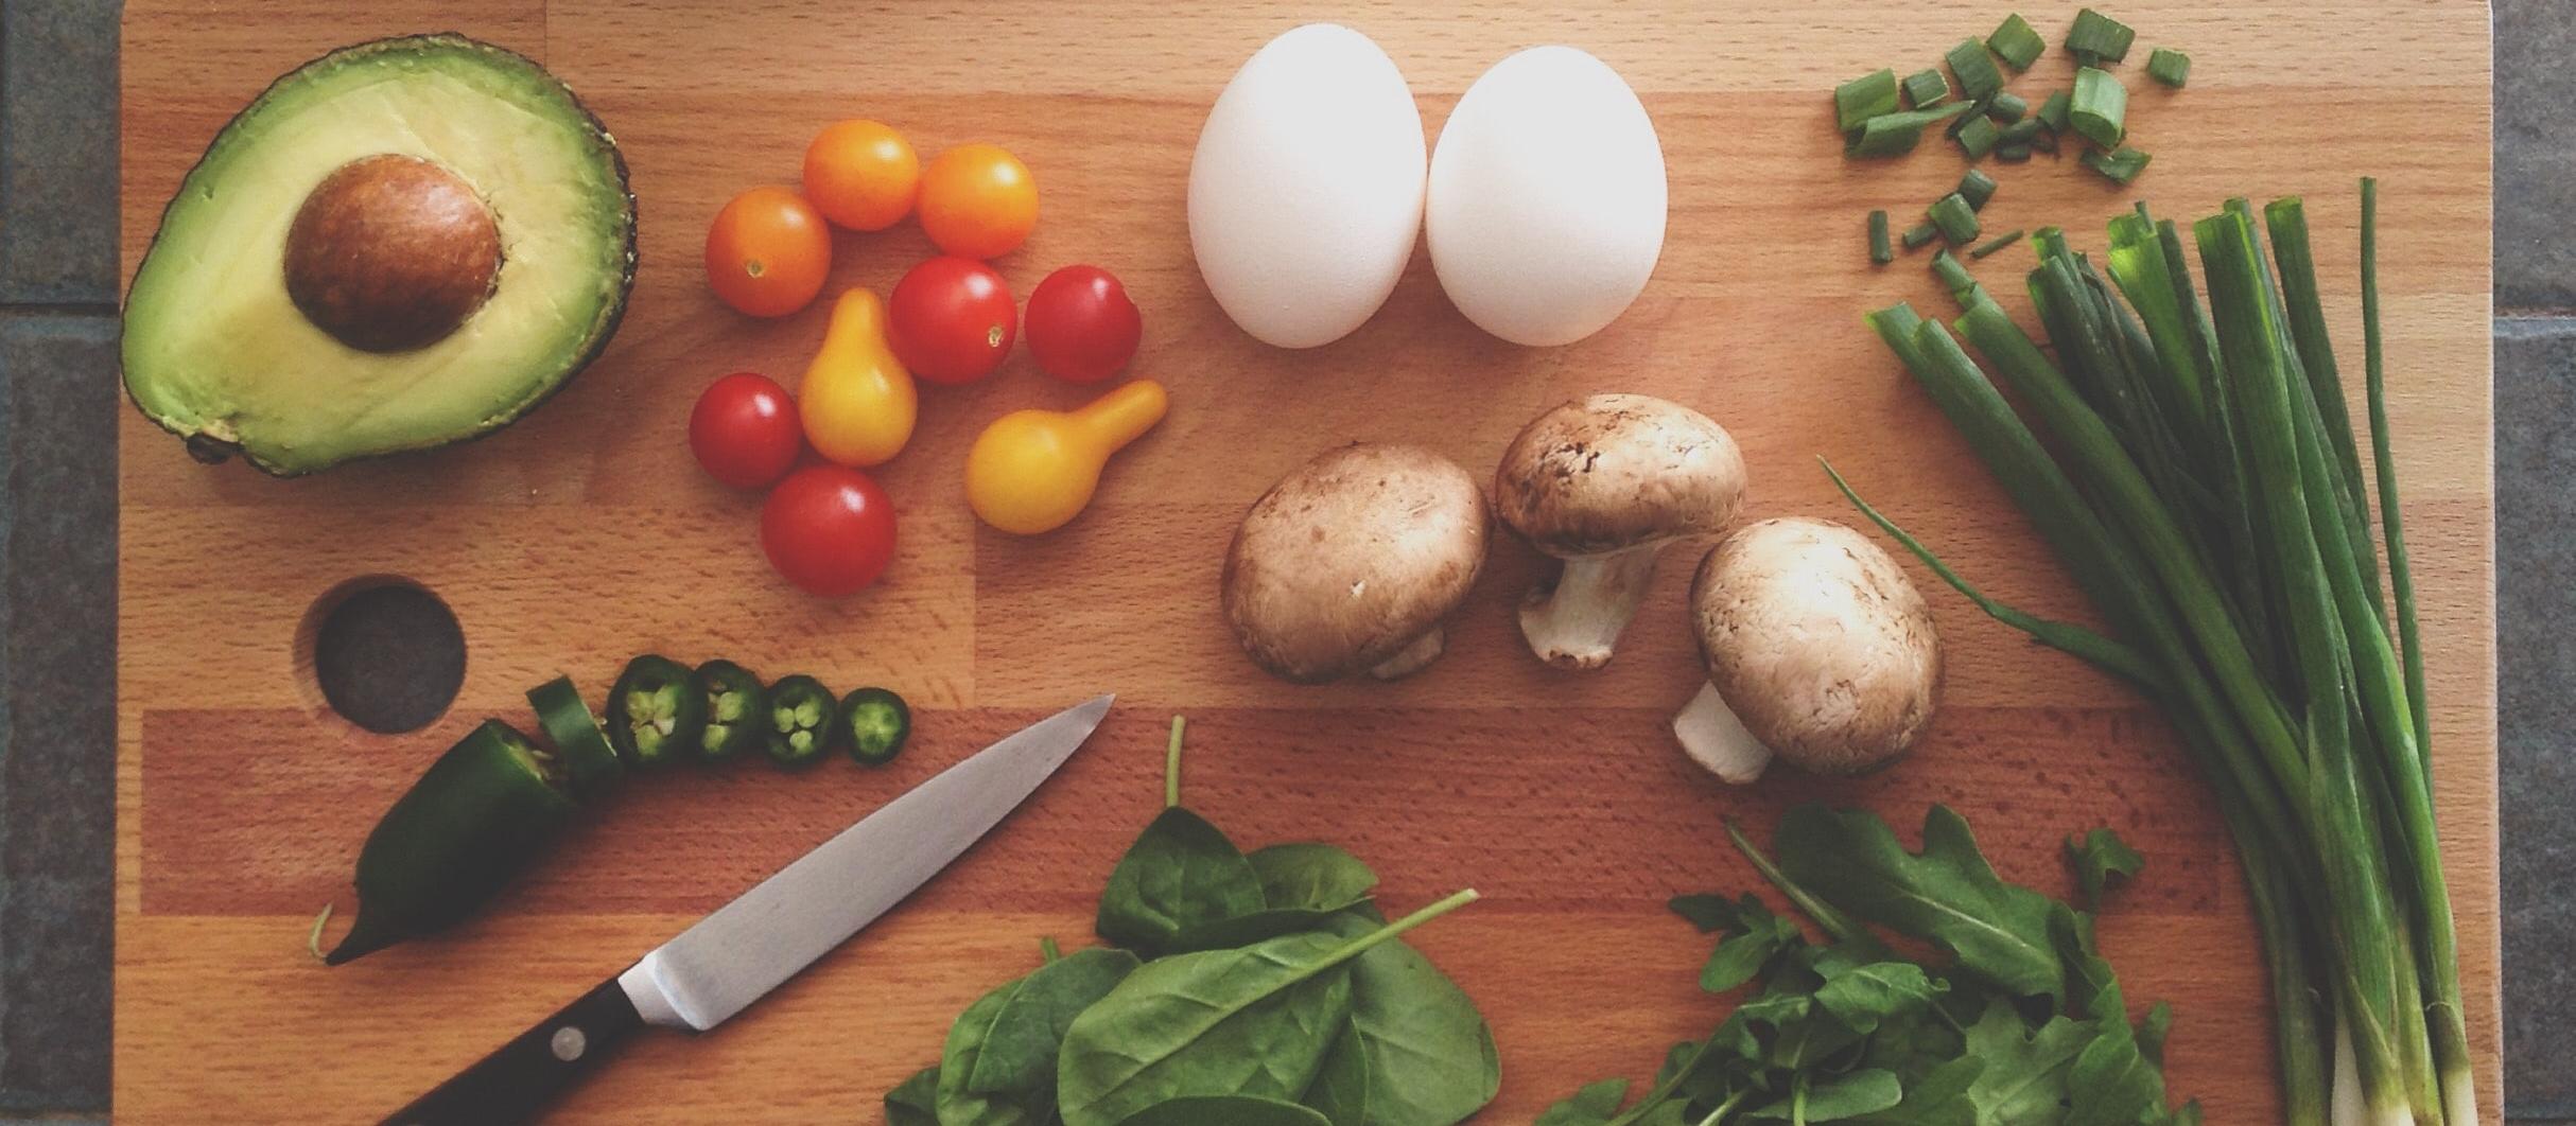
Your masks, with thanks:
[(1723, 528), (1744, 453), (1708, 415), (1651, 394), (1595, 394), (1530, 420), (1494, 469), (1494, 513), (1553, 557)]

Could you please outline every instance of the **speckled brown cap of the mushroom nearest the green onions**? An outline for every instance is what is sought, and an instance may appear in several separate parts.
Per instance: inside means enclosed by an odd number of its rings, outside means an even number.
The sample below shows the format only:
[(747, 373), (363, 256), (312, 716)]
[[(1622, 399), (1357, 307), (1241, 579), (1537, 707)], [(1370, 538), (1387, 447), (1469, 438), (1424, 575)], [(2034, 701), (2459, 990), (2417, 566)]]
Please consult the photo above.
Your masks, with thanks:
[(1940, 693), (1932, 608), (1868, 536), (1757, 520), (1690, 580), (1708, 683), (1762, 745), (1816, 773), (1865, 773), (1914, 745)]

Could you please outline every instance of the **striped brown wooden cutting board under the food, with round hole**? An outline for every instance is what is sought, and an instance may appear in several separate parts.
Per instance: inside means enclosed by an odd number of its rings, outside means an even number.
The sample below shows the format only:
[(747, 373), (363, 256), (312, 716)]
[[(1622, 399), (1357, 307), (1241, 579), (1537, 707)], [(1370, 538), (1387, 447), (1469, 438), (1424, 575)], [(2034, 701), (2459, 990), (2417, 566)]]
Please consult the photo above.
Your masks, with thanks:
[[(1726, 423), (1754, 472), (1752, 515), (1850, 520), (1826, 453), (1989, 590), (2081, 613), (2004, 495), (1873, 340), (1860, 312), (1937, 307), (1924, 258), (1870, 268), (1862, 216), (1909, 222), (1960, 175), (1927, 144), (1847, 165), (1826, 90), (1935, 64), (1996, 3), (1777, 5), (1164, 0), (750, 10), (675, 0), (131, 3), (124, 49), (124, 255), (224, 119), (337, 44), (456, 28), (526, 52), (600, 113), (634, 167), (641, 271), (608, 356), (507, 433), (428, 456), (273, 482), (206, 469), (137, 415), (121, 433), (116, 1111), (134, 1121), (355, 1121), (446, 1077), (696, 915), (987, 740), (1118, 691), (1092, 745), (912, 904), (711, 1036), (652, 1036), (562, 1121), (876, 1121), (876, 1098), (935, 1059), (948, 1020), (1087, 940), (1115, 855), (1157, 806), (1162, 732), (1193, 719), (1190, 804), (1247, 848), (1327, 837), (1386, 876), (1388, 907), (1458, 886), (1484, 902), (1419, 933), (1494, 1020), (1502, 1098), (1530, 1121), (1602, 1074), (1643, 1074), (1705, 1033), (1708, 943), (1674, 892), (1749, 889), (1721, 819), (1767, 837), (1795, 801), (1865, 804), (1911, 837), (1924, 804), (1976, 825), (2009, 876), (2066, 889), (2058, 837), (2117, 827), (2146, 876), (2102, 920), (2136, 1002), (2174, 1002), (2172, 1087), (2213, 1123), (2277, 1116), (2264, 979), (2208, 788), (2156, 714), (2115, 683), (1932, 603), (1950, 652), (1940, 719), (1911, 760), (1857, 783), (1783, 773), (1726, 788), (1664, 729), (1698, 680), (1682, 624), (1692, 551), (1674, 551), (1618, 662), (1540, 667), (1510, 606), (1533, 554), (1497, 541), (1450, 626), (1450, 654), (1394, 685), (1293, 688), (1255, 673), (1218, 624), (1218, 559), (1244, 505), (1311, 453), (1427, 443), (1473, 472), (1538, 410), (1651, 392)], [(1899, 10), (1901, 8), (1901, 10)], [(2058, 39), (2074, 5), (2025, 8)], [(2494, 551), (2488, 487), (2488, 21), (2481, 3), (2125, 0), (2138, 54), (2192, 54), (2192, 85), (2148, 85), (2130, 121), (2156, 155), (2136, 191), (2071, 160), (1994, 165), (1994, 229), (2063, 224), (2099, 247), (2130, 196), (2208, 214), (2226, 196), (2308, 193), (2334, 330), (2360, 366), (2354, 178), (2385, 180), (2393, 412), (2432, 652), (2437, 788), (2460, 912), (2481, 1103), (2501, 1108), (2496, 1020)], [(1437, 129), (1512, 49), (1579, 44), (1618, 67), (1664, 139), (1672, 227), (1654, 283), (1610, 330), (1528, 350), (1473, 330), (1427, 263), (1347, 340), (1273, 350), (1234, 330), (1190, 263), (1182, 183), (1198, 124), (1236, 64), (1306, 18), (1388, 49)], [(2061, 54), (2017, 82), (2063, 88)], [(1136, 371), (1172, 417), (1046, 539), (966, 513), (971, 435), (1079, 389), (1025, 353), (997, 379), (930, 389), (912, 448), (884, 469), (902, 513), (886, 582), (817, 603), (770, 577), (757, 497), (683, 448), (701, 386), (793, 379), (824, 304), (783, 322), (719, 307), (706, 222), (732, 193), (788, 183), (827, 121), (873, 116), (925, 152), (999, 142), (1038, 175), (1043, 219), (999, 268), (1025, 294), (1100, 263), (1146, 314)], [(927, 255), (917, 229), (837, 242), (835, 286), (884, 291)], [(1984, 265), (2017, 276), (2027, 250)], [(2009, 271), (2009, 273), (2007, 273)], [(98, 379), (113, 379), (100, 371)], [(469, 642), (464, 693), (422, 732), (366, 734), (319, 703), (299, 624), (355, 577), (435, 590)], [(1929, 575), (1917, 572), (1919, 582)], [(920, 734), (884, 773), (747, 763), (631, 786), (526, 884), (453, 935), (325, 971), (304, 956), (374, 817), (482, 716), (528, 727), (520, 691), (572, 673), (592, 698), (634, 652), (734, 657), (773, 675), (886, 683)]]

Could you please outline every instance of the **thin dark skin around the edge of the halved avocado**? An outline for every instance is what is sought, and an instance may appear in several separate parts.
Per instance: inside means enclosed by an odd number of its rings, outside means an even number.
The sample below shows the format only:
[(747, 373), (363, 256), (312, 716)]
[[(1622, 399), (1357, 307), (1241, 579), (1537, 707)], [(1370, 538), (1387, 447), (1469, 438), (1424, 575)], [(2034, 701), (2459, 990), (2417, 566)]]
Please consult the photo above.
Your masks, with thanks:
[[(270, 100), (270, 95), (278, 88), (283, 88), (286, 82), (296, 80), (307, 70), (314, 70), (314, 67), (322, 67), (322, 64), (332, 64), (332, 62), (363, 59), (368, 54), (417, 52), (417, 49), (430, 49), (430, 46), (497, 54), (497, 57), (515, 59), (518, 64), (533, 67), (541, 75), (549, 75), (549, 77), (554, 75), (546, 67), (541, 67), (536, 59), (528, 59), (526, 54), (518, 54), (518, 52), (513, 52), (507, 46), (484, 44), (479, 39), (471, 39), (471, 36), (464, 36), (464, 33), (456, 33), (456, 31), (435, 31), (435, 33), (420, 33), (420, 36), (368, 39), (363, 44), (340, 46), (340, 49), (325, 52), (325, 54), (314, 57), (312, 62), (304, 62), (304, 64), (299, 64), (299, 67), (278, 75), (276, 80), (270, 80), (268, 88), (263, 88), (258, 98), (252, 98), (247, 106), (242, 106), (237, 113), (232, 113), (232, 119), (224, 121), (224, 129), (216, 129), (214, 139), (206, 142), (206, 152), (198, 155), (196, 165), (188, 165), (188, 175), (180, 175), (180, 183), (185, 186), (188, 178), (196, 175), (196, 167), (204, 165), (206, 157), (216, 152), (216, 147), (222, 144), (222, 139), (242, 119), (255, 116)], [(430, 448), (459, 446), (459, 443), (469, 443), (474, 438), (484, 438), (484, 435), (500, 433), (500, 430), (510, 428), (510, 423), (518, 423), (531, 410), (544, 407), (564, 386), (569, 386), (592, 361), (600, 358), (600, 353), (608, 350), (608, 340), (613, 340), (618, 335), (618, 325), (626, 322), (626, 301), (634, 296), (634, 289), (636, 289), (636, 193), (634, 193), (634, 183), (626, 178), (626, 152), (618, 149), (616, 137), (608, 134), (608, 126), (600, 121), (600, 116), (592, 113), (590, 106), (585, 106), (582, 98), (577, 93), (572, 93), (569, 85), (564, 85), (562, 80), (556, 80), (556, 85), (564, 90), (564, 98), (572, 103), (572, 111), (582, 116), (582, 129), (595, 139), (595, 144), (600, 149), (608, 152), (611, 165), (616, 165), (616, 170), (618, 170), (618, 196), (626, 201), (626, 255), (623, 255), (623, 263), (621, 263), (621, 271), (618, 271), (618, 296), (616, 296), (616, 301), (608, 304), (608, 317), (600, 322), (598, 332), (592, 335), (590, 348), (582, 350), (582, 356), (572, 363), (572, 371), (567, 371), (564, 379), (559, 379), (554, 386), (549, 386), (546, 394), (538, 394), (538, 397), (528, 399), (518, 410), (513, 410), (507, 415), (500, 415), (500, 417), (489, 420), (487, 425), (482, 425), (482, 428), (477, 428), (471, 433), (461, 433), (461, 435), (453, 435), (453, 438), (443, 438), (443, 441), (433, 441), (433, 443), (422, 443), (422, 446), (412, 446), (412, 448), (399, 448), (399, 451), (353, 456), (348, 461), (335, 461), (330, 469), (337, 469), (337, 466), (345, 466), (345, 464), (355, 464), (355, 461), (376, 461), (376, 459), (386, 459), (386, 456), (397, 456), (397, 453), (420, 453), (420, 451), (430, 451)], [(160, 247), (160, 237), (162, 237), (162, 229), (167, 224), (170, 206), (175, 206), (175, 204), (178, 204), (175, 193), (173, 193), (173, 198), (167, 204), (162, 204), (162, 219), (157, 219), (152, 224), (152, 242), (144, 245), (144, 258), (152, 258), (152, 250)], [(131, 278), (126, 283), (131, 286)], [(118, 317), (116, 332), (118, 332), (118, 353), (124, 353), (124, 332), (126, 332), (124, 317)], [(204, 433), (185, 433), (185, 430), (165, 425), (149, 410), (142, 410), (142, 402), (134, 397), (134, 384), (131, 381), (118, 379), (118, 386), (124, 386), (124, 392), (126, 392), (126, 405), (131, 405), (137, 412), (142, 412), (144, 417), (149, 417), (152, 425), (160, 425), (170, 435), (178, 435), (180, 441), (185, 441), (188, 456), (193, 456), (193, 459), (198, 459), (204, 464), (222, 464), (222, 461), (232, 459), (234, 453), (240, 453), (240, 446), (234, 446), (234, 443), (227, 443), (227, 441), (219, 441), (219, 438), (209, 438)], [(278, 466), (260, 464), (260, 459), (245, 459), (245, 461), (250, 461), (252, 466), (258, 466), (268, 477), (307, 477), (307, 472), (283, 472)], [(314, 469), (314, 472), (319, 472), (319, 469)]]

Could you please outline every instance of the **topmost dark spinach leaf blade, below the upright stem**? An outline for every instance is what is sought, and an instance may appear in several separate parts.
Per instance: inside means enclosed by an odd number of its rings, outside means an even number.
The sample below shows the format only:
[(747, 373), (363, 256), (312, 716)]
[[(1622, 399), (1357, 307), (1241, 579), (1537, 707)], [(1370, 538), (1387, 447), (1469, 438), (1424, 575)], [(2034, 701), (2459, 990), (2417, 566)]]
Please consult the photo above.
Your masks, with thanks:
[(1195, 925), (1267, 907), (1260, 873), (1203, 817), (1170, 806), (1128, 845), (1100, 894), (1097, 930), (1110, 946), (1162, 956)]

